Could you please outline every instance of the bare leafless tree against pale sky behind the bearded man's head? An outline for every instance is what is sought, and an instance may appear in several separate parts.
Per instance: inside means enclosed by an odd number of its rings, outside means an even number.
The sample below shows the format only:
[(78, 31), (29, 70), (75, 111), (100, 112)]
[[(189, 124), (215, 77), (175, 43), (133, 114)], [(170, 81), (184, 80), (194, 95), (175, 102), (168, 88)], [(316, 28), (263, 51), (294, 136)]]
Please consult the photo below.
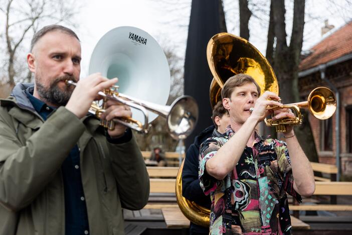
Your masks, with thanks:
[[(27, 47), (22, 47), (33, 33), (43, 24), (58, 24), (70, 20), (79, 7), (72, 0), (2, 0), (0, 1), (0, 14), (5, 19), (5, 31), (2, 40), (6, 44), (5, 83), (10, 87), (18, 81), (30, 81), (31, 73), (24, 66), (23, 52)], [(26, 48), (26, 49), (25, 49)], [(21, 54), (22, 52), (22, 54)], [(4, 79), (4, 78), (3, 78)], [(4, 83), (4, 81), (3, 81)]]

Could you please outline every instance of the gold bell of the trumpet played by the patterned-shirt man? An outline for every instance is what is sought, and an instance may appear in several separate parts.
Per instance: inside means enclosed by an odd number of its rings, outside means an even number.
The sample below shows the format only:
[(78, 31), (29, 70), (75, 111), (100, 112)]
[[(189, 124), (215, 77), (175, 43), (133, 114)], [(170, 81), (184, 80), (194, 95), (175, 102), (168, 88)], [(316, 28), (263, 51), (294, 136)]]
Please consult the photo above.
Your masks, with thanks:
[(308, 96), (308, 107), (315, 118), (328, 119), (336, 110), (335, 95), (327, 87), (317, 87)]

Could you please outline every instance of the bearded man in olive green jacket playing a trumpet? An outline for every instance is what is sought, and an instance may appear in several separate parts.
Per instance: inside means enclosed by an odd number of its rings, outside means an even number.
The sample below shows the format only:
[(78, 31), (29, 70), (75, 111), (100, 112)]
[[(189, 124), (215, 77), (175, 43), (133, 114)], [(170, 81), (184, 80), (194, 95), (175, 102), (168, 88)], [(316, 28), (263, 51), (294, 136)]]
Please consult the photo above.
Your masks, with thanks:
[[(0, 234), (123, 234), (121, 208), (138, 210), (148, 200), (131, 130), (106, 130), (87, 115), (117, 78), (80, 80), (80, 61), (72, 30), (44, 27), (27, 56), (35, 84), (18, 84), (0, 100)], [(109, 101), (102, 118), (122, 116), (131, 116), (129, 107)]]

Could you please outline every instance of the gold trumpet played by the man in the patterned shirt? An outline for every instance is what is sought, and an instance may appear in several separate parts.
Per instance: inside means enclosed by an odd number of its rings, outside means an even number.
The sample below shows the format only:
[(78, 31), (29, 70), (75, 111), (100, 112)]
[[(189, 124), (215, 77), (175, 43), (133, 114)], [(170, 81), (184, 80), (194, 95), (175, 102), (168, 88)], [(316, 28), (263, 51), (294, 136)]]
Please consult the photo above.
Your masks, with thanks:
[(280, 106), (268, 107), (268, 110), (278, 108), (290, 108), (296, 113), (294, 119), (285, 118), (273, 121), (272, 119), (265, 119), (264, 122), (268, 127), (275, 127), (276, 132), (285, 132), (288, 125), (301, 125), (303, 122), (303, 115), (300, 108), (308, 108), (310, 113), (315, 118), (325, 120), (330, 118), (336, 110), (336, 99), (333, 92), (327, 87), (317, 87), (313, 89), (308, 96), (307, 101), (289, 103)]

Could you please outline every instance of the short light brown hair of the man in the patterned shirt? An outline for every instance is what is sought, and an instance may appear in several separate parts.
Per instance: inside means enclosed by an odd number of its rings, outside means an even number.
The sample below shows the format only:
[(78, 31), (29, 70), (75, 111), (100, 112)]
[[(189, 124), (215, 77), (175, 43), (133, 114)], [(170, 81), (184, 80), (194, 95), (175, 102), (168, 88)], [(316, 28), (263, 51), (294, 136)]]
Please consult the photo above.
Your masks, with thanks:
[(221, 89), (221, 97), (222, 98), (231, 98), (231, 93), (236, 86), (242, 86), (245, 83), (253, 82), (254, 85), (257, 87), (258, 96), (260, 96), (260, 86), (254, 80), (254, 78), (248, 74), (239, 73), (235, 76), (230, 77), (224, 84), (223, 88)]

